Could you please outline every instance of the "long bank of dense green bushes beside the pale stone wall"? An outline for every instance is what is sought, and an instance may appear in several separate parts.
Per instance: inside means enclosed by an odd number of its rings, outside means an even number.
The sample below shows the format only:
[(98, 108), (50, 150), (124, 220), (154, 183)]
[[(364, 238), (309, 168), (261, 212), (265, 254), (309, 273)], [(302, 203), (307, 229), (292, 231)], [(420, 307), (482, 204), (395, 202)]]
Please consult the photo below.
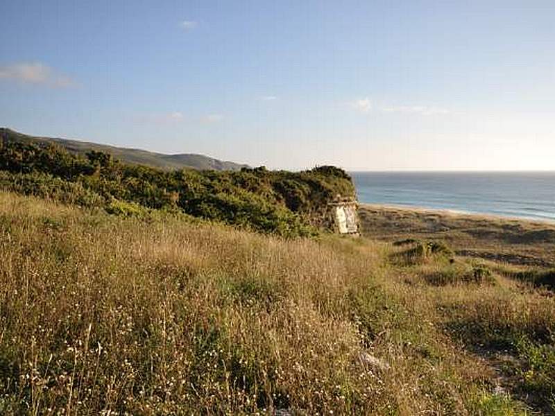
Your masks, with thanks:
[(0, 147), (0, 186), (84, 207), (103, 207), (114, 214), (139, 212), (138, 207), (179, 209), (284, 236), (313, 234), (316, 228), (326, 227), (327, 202), (337, 195), (355, 196), (349, 175), (333, 166), (300, 173), (264, 167), (240, 172), (160, 171), (121, 164), (102, 152), (82, 157), (54, 145), (8, 141)]

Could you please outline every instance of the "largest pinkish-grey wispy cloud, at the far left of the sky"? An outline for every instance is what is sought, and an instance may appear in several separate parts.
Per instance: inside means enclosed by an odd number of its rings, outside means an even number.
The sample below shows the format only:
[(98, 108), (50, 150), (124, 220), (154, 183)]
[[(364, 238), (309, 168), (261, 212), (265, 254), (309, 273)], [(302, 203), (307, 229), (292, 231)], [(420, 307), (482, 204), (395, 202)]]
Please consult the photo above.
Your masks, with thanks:
[(40, 62), (18, 62), (0, 66), (0, 79), (28, 85), (46, 85), (55, 88), (74, 87), (75, 81), (56, 73), (51, 67)]

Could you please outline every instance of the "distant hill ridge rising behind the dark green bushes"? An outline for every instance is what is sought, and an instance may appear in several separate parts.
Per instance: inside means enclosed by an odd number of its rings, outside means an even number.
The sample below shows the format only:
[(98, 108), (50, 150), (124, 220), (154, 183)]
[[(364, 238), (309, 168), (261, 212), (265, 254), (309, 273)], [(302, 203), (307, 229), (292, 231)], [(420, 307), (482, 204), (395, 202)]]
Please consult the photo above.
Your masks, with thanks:
[(107, 144), (90, 143), (88, 141), (60, 139), (58, 137), (29, 136), (9, 128), (0, 128), (0, 138), (5, 141), (19, 141), (22, 143), (55, 143), (71, 153), (80, 155), (85, 155), (85, 153), (90, 150), (96, 150), (110, 153), (115, 159), (121, 160), (121, 162), (142, 164), (165, 170), (193, 168), (200, 171), (239, 171), (241, 168), (248, 167), (246, 164), (223, 161), (194, 153), (166, 155), (164, 153), (149, 152), (148, 150), (120, 148)]

